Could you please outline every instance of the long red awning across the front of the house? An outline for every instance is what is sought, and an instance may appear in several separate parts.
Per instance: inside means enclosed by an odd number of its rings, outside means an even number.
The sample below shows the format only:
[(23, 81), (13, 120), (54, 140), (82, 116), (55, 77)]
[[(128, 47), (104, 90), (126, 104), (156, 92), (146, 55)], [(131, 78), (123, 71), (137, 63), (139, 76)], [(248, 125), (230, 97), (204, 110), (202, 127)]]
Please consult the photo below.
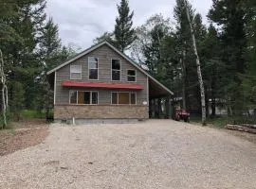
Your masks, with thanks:
[(142, 85), (134, 84), (134, 83), (101, 83), (101, 82), (80, 82), (80, 81), (71, 81), (71, 80), (64, 80), (62, 82), (62, 86), (105, 88), (105, 89), (133, 89), (133, 90), (143, 89)]

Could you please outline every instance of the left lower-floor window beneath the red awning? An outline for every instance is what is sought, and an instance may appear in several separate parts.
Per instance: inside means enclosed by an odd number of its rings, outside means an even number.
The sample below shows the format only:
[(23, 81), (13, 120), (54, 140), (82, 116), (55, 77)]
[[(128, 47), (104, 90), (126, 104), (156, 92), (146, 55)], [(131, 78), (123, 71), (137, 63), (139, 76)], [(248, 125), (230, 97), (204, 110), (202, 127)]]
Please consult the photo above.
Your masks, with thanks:
[(70, 104), (98, 104), (98, 92), (70, 91)]

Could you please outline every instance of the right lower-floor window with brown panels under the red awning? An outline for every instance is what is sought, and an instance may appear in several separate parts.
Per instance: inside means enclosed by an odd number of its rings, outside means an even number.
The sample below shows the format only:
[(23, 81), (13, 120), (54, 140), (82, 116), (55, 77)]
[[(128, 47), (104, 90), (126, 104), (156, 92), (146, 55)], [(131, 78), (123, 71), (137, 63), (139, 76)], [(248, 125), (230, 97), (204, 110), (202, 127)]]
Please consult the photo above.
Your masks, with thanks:
[(112, 104), (136, 104), (136, 93), (113, 92), (111, 99)]

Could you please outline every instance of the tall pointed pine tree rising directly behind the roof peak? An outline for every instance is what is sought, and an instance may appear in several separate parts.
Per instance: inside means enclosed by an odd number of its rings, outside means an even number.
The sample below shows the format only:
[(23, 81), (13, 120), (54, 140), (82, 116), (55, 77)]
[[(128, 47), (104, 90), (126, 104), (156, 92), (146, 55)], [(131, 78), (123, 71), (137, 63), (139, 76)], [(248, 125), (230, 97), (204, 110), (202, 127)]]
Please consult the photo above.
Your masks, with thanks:
[(124, 52), (136, 40), (135, 30), (133, 28), (134, 11), (130, 13), (128, 0), (121, 0), (118, 10), (119, 17), (116, 19), (114, 30), (115, 44), (119, 51)]

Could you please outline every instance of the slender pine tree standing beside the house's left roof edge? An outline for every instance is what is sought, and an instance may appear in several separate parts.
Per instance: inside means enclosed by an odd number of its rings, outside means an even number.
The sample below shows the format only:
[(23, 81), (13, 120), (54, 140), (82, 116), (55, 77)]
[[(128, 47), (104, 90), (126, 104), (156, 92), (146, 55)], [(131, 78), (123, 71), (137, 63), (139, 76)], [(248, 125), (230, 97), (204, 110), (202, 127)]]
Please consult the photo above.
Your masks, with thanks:
[(48, 19), (46, 26), (42, 29), (39, 46), (42, 66), (37, 79), (37, 91), (40, 92), (40, 95), (35, 98), (34, 104), (38, 111), (46, 110), (46, 116), (48, 117), (49, 110), (53, 108), (53, 92), (47, 81), (46, 72), (67, 58), (63, 57), (58, 26), (53, 23), (52, 18)]

